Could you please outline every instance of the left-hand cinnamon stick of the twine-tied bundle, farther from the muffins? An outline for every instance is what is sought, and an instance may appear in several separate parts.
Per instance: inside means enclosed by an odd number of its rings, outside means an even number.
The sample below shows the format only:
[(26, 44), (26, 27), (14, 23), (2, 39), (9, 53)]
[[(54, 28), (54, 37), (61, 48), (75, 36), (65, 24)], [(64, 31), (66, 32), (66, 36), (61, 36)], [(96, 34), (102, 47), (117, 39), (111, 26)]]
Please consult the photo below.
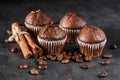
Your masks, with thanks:
[[(20, 28), (20, 26), (17, 22), (14, 22), (12, 24), (12, 28)], [(18, 38), (19, 38), (19, 41), (17, 41), (17, 43), (19, 44), (19, 46), (22, 50), (24, 58), (27, 59), (27, 58), (31, 57), (32, 56), (32, 51), (30, 50), (30, 47), (26, 42), (24, 34), (18, 35)]]

